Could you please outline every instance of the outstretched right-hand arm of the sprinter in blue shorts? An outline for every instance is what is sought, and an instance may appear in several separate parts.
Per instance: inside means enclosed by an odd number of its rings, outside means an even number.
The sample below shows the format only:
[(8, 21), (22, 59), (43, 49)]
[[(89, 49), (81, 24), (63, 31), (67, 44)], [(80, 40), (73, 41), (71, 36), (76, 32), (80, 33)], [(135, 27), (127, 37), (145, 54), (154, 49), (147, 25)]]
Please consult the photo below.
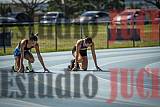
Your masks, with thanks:
[(42, 56), (40, 54), (39, 44), (38, 43), (35, 45), (35, 50), (36, 50), (36, 53), (37, 53), (38, 60), (40, 61), (41, 65), (43, 66), (44, 71), (48, 71), (49, 72), (49, 70), (44, 65), (44, 61), (43, 61), (43, 58), (42, 58)]

